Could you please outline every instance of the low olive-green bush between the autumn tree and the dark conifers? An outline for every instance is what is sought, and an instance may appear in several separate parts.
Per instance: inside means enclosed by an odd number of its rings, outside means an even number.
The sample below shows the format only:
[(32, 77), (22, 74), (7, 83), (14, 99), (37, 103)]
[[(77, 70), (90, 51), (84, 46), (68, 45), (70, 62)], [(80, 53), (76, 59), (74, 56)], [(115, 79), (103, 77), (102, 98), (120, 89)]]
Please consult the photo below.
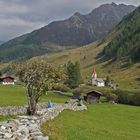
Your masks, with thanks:
[(71, 92), (71, 89), (63, 84), (55, 85), (53, 87), (53, 90), (58, 90), (58, 91), (62, 91), (62, 92)]

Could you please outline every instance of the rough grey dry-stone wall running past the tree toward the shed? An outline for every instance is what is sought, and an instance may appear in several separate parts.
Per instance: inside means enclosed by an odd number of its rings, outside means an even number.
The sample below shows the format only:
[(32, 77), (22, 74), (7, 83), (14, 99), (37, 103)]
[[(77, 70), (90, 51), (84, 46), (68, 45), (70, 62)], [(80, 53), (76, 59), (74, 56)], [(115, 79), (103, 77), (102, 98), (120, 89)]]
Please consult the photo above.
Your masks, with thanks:
[[(16, 114), (26, 111), (26, 107), (14, 107), (11, 112), (10, 108), (1, 108), (1, 111), (7, 115), (9, 113)], [(40, 104), (38, 106), (38, 112), (36, 116), (18, 116), (16, 119), (0, 123), (0, 140), (48, 140), (48, 136), (43, 136), (40, 131), (40, 126), (47, 120), (54, 119), (64, 109), (71, 109), (74, 111), (80, 111), (87, 109), (85, 105), (77, 106), (73, 102), (68, 104), (54, 104), (52, 108), (47, 108), (46, 104)], [(22, 112), (22, 113), (23, 113)], [(3, 114), (4, 114), (3, 113)]]

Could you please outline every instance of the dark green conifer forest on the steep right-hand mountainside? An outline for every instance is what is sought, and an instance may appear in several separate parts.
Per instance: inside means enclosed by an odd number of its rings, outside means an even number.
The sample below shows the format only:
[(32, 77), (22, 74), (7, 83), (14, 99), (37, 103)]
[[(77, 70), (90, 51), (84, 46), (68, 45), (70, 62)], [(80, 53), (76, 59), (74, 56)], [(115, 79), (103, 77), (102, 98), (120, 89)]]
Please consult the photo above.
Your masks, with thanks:
[(120, 22), (114, 33), (103, 55), (108, 59), (140, 61), (140, 6)]

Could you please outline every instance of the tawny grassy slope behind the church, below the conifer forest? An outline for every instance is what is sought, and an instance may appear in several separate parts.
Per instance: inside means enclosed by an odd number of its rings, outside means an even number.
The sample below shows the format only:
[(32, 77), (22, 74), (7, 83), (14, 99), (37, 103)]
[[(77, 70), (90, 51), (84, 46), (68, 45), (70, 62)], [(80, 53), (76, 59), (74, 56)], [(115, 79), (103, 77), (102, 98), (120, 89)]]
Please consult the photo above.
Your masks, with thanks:
[(91, 80), (91, 72), (93, 67), (95, 67), (98, 77), (106, 78), (106, 76), (111, 76), (122, 89), (140, 90), (140, 64), (137, 63), (130, 67), (120, 68), (119, 62), (109, 65), (110, 61), (98, 59), (98, 54), (102, 52), (106, 45), (107, 42), (98, 46), (98, 42), (96, 42), (77, 49), (52, 53), (33, 59), (45, 60), (56, 66), (63, 65), (69, 60), (79, 61), (85, 82)]

